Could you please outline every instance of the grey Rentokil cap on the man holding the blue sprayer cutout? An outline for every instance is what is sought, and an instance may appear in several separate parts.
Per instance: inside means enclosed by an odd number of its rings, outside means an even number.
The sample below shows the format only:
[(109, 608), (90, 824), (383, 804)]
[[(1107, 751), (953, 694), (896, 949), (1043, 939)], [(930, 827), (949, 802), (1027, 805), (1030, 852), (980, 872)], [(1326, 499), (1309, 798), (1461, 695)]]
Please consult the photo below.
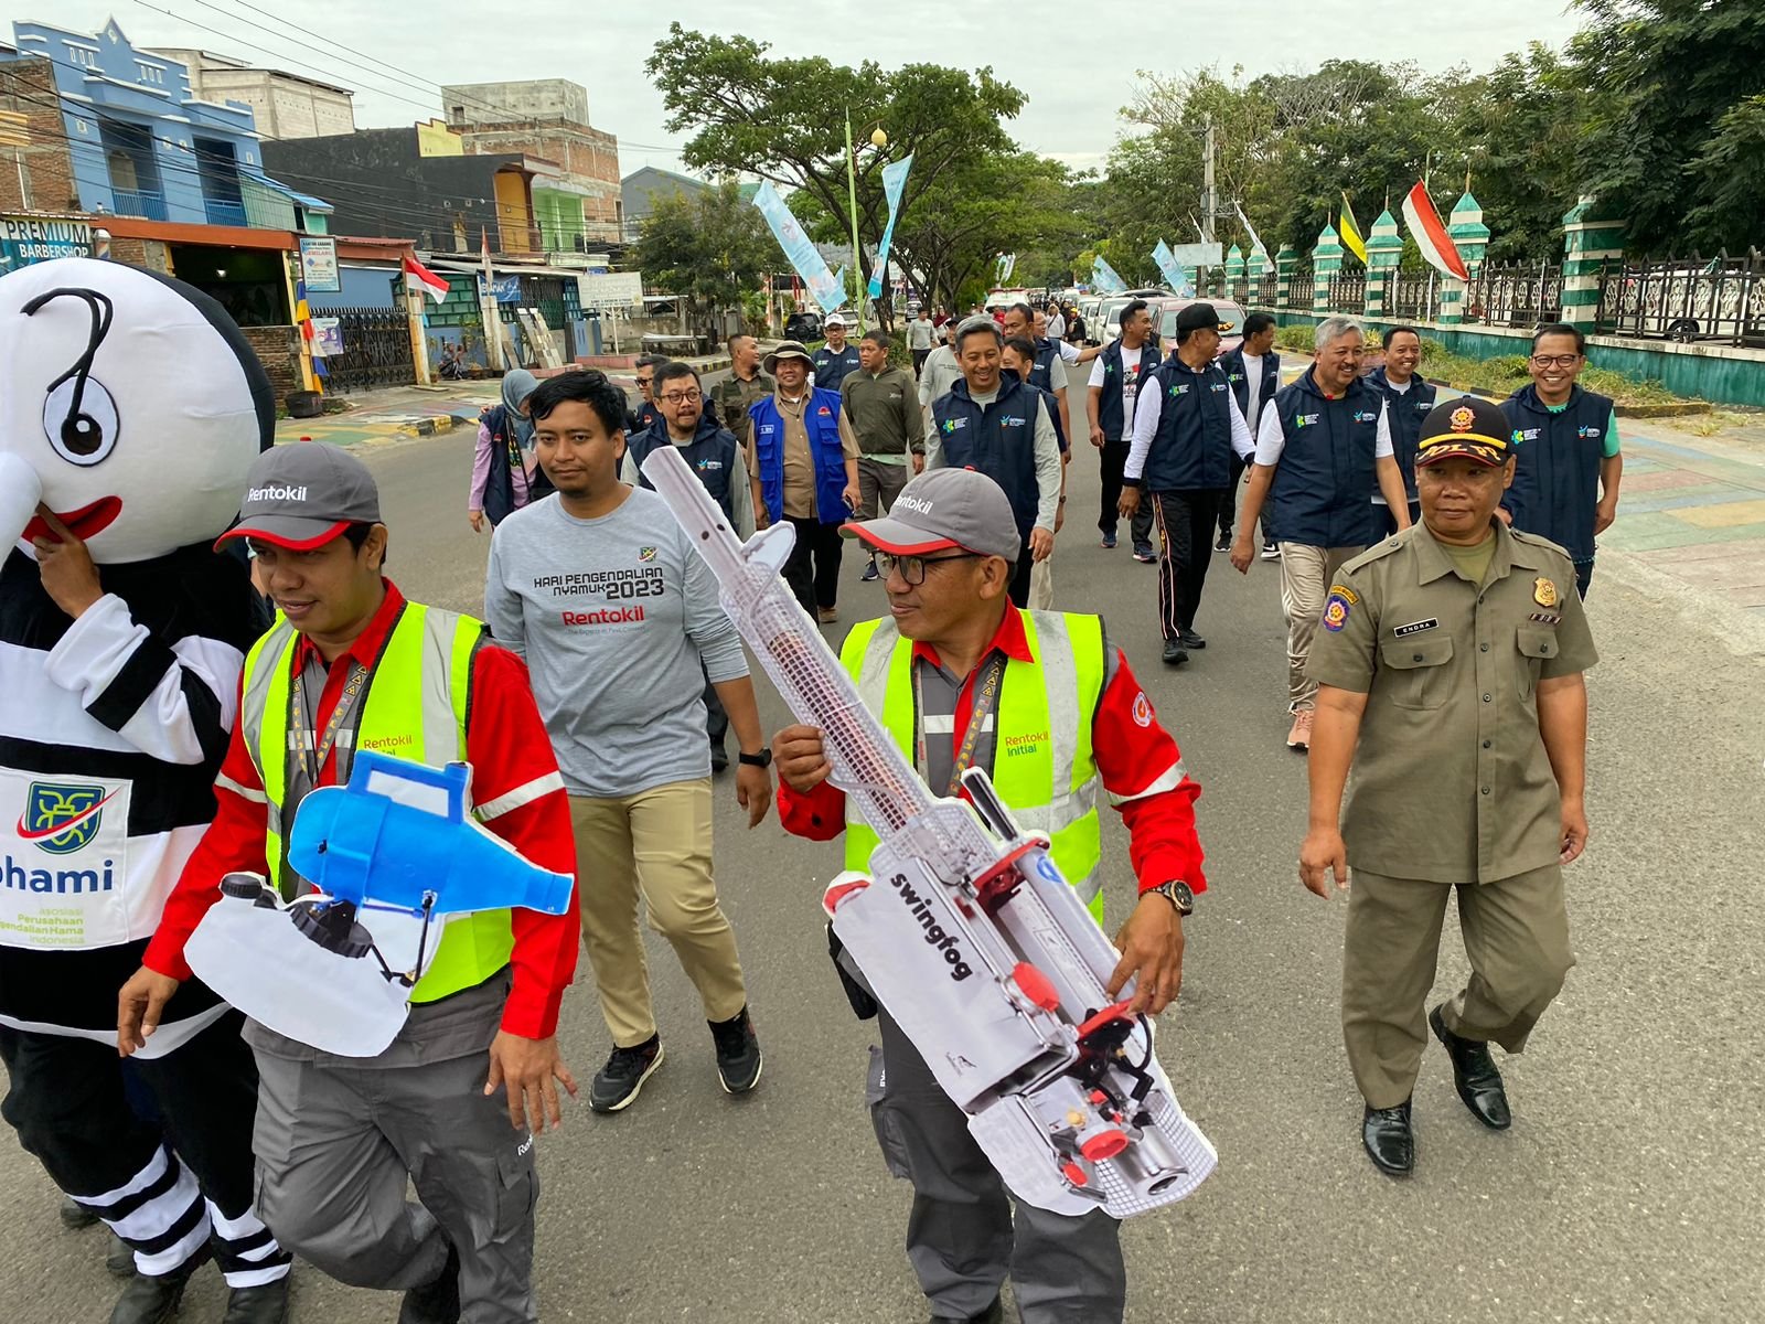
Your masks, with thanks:
[(245, 475), (238, 524), (219, 538), (259, 538), (289, 551), (323, 547), (351, 524), (379, 523), (379, 487), (367, 464), (323, 441), (265, 450)]

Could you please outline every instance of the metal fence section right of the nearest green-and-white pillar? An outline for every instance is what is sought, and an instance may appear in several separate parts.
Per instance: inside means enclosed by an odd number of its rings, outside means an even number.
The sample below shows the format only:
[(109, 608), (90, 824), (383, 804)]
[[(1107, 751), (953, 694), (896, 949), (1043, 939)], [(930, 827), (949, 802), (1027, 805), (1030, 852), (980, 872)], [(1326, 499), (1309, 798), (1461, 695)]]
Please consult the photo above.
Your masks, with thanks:
[(1597, 327), (1606, 335), (1765, 348), (1765, 254), (1608, 261)]

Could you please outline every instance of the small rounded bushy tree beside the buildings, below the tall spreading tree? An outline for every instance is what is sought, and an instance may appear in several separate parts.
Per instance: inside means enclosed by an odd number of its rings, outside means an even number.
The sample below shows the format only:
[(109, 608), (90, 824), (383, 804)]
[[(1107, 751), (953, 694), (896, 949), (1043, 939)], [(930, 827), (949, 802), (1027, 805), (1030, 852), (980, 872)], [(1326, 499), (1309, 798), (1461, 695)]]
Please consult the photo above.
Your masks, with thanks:
[(761, 288), (777, 252), (734, 180), (657, 199), (637, 238), (644, 279), (708, 309), (743, 307), (743, 295)]

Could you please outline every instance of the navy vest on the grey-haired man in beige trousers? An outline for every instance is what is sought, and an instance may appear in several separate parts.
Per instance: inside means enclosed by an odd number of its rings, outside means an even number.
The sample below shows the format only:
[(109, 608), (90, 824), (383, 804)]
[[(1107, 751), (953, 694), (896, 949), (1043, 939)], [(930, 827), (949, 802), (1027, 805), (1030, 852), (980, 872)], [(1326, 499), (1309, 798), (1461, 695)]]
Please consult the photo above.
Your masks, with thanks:
[(1306, 547), (1370, 547), (1386, 533), (1373, 452), (1384, 397), (1356, 381), (1338, 399), (1326, 399), (1308, 367), (1294, 385), (1274, 394), (1287, 445), (1274, 466), (1266, 528), (1276, 542)]

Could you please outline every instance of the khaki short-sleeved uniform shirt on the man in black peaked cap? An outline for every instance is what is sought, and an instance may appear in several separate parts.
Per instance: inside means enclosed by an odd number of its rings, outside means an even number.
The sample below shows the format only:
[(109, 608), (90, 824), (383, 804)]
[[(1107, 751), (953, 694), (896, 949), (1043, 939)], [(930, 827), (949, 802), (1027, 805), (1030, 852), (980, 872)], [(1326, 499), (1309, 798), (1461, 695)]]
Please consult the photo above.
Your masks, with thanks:
[(1555, 863), (1562, 798), (1536, 687), (1597, 660), (1564, 551), (1495, 523), (1479, 586), (1417, 524), (1338, 572), (1322, 627), (1311, 678), (1366, 696), (1348, 863), (1431, 883)]

